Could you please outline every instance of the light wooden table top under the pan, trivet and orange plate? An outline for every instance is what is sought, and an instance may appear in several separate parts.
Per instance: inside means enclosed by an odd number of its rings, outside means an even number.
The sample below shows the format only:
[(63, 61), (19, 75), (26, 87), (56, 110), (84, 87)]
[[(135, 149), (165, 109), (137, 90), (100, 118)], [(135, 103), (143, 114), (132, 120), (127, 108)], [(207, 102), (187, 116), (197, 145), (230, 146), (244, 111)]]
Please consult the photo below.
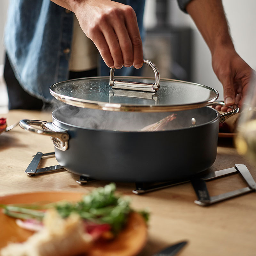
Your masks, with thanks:
[[(51, 122), (50, 112), (11, 110), (6, 117), (8, 125), (20, 119)], [(79, 185), (78, 175), (68, 171), (28, 176), (24, 173), (37, 151), (54, 151), (50, 138), (22, 130), (19, 126), (0, 134), (0, 196), (34, 191), (76, 191), (87, 193), (108, 184), (93, 181)], [(58, 164), (55, 158), (41, 161), (39, 168)], [(239, 156), (232, 140), (219, 141), (215, 163), (210, 171), (218, 171), (234, 164), (245, 164), (256, 180), (256, 166)], [(256, 194), (238, 196), (210, 206), (194, 203), (196, 194), (191, 183), (184, 183), (143, 195), (132, 193), (134, 184), (117, 182), (117, 191), (130, 196), (132, 207), (147, 208), (151, 215), (148, 243), (140, 256), (154, 254), (165, 246), (187, 240), (180, 256), (198, 255), (256, 255)], [(211, 196), (244, 188), (247, 184), (239, 174), (228, 175), (207, 182)]]

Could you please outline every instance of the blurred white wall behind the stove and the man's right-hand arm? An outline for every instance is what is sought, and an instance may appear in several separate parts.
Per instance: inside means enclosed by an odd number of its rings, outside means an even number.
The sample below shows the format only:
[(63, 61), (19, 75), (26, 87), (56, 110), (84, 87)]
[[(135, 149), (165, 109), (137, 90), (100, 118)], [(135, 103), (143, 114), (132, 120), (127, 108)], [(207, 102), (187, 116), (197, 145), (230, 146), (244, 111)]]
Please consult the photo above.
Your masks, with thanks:
[[(256, 1), (222, 1), (236, 51), (253, 69), (256, 69)], [(156, 24), (156, 17), (153, 15), (155, 2), (155, 0), (147, 0), (146, 10), (148, 13), (144, 17), (147, 27), (153, 27)], [(204, 39), (197, 31), (190, 16), (180, 11), (177, 1), (169, 0), (169, 4), (172, 24), (187, 25), (194, 29), (193, 82), (216, 89), (220, 93), (219, 99), (223, 100), (222, 85), (212, 71), (211, 54)]]

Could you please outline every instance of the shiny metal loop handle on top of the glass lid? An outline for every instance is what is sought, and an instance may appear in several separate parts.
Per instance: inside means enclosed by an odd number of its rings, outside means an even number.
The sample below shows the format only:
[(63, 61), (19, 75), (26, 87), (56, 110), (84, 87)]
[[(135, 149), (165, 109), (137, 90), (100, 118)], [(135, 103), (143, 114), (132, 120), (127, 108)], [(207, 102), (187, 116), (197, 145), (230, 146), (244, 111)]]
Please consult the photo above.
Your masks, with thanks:
[(117, 81), (114, 79), (115, 68), (110, 69), (109, 75), (109, 85), (113, 89), (124, 89), (124, 90), (133, 90), (133, 91), (145, 91), (145, 92), (156, 92), (159, 90), (159, 71), (154, 63), (149, 60), (143, 61), (145, 64), (149, 65), (155, 73), (156, 81), (154, 84), (150, 83), (139, 83), (139, 82), (129, 82), (129, 81)]

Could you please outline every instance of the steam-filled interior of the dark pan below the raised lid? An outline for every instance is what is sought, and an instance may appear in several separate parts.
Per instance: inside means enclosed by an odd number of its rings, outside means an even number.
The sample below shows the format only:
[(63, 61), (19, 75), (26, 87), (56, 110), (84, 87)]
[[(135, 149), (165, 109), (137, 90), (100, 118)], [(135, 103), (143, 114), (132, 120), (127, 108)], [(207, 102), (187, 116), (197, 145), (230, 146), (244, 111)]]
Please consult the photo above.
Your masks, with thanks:
[[(198, 125), (209, 122), (217, 116), (214, 111), (208, 111), (205, 108), (181, 112), (141, 113), (104, 111), (64, 105), (54, 112), (54, 118), (60, 122), (88, 129), (110, 131), (140, 131), (143, 127), (158, 122), (172, 113), (176, 113), (177, 116), (164, 126), (164, 130), (195, 126), (192, 120), (196, 120), (196, 125)], [(209, 114), (205, 114), (206, 112)]]

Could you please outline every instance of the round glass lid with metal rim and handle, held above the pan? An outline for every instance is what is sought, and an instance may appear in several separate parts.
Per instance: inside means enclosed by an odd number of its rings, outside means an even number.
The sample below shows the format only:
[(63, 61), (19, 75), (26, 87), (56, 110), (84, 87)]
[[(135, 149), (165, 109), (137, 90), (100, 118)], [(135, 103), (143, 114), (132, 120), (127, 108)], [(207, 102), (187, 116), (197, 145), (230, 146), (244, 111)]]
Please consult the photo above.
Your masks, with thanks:
[[(211, 105), (218, 92), (208, 86), (173, 79), (116, 76), (88, 77), (53, 84), (51, 94), (62, 102), (81, 108), (110, 111), (165, 112)], [(154, 69), (155, 68), (155, 69)]]

